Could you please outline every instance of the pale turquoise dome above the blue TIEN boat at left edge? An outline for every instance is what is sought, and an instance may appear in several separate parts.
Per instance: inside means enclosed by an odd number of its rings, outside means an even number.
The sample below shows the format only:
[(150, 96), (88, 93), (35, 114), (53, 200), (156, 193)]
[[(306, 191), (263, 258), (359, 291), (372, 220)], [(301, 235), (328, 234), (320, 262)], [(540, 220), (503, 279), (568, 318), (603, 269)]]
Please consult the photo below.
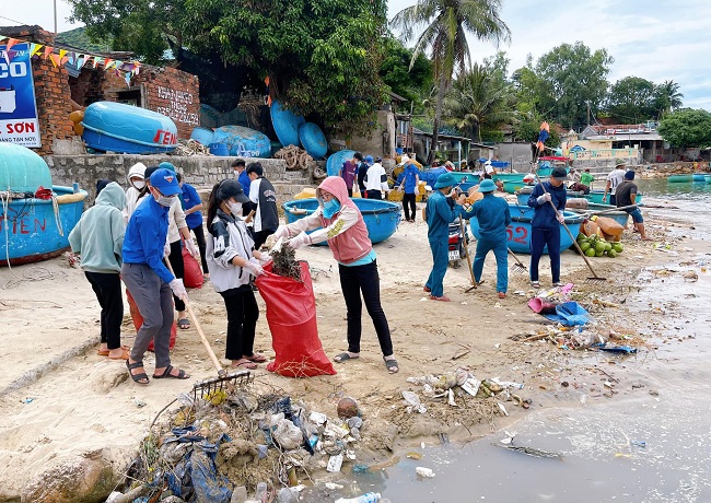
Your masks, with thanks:
[(25, 147), (0, 143), (0, 190), (34, 194), (39, 186), (51, 188), (44, 159)]

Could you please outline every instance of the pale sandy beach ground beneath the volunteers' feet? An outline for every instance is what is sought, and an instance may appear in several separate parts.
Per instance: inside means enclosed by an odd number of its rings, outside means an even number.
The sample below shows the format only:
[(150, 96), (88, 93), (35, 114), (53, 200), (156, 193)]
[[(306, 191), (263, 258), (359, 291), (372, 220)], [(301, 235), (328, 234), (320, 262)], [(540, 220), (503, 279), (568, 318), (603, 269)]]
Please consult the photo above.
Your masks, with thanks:
[[(655, 224), (664, 225), (662, 222)], [(511, 340), (515, 335), (545, 329), (544, 318), (526, 305), (533, 292), (529, 292), (525, 277), (510, 274), (509, 296), (503, 301), (496, 299), (492, 284), (494, 260), (491, 256), (485, 267), (487, 282), (478, 290), (464, 293), (469, 285), (466, 266), (456, 270), (450, 268), (445, 277), (445, 293), (454, 302), (442, 305), (423, 300), (421, 284), (430, 267), (426, 232), (427, 225), (419, 220), (416, 224), (401, 223), (391, 239), (375, 246), (383, 305), (393, 331), (399, 374), (387, 374), (365, 314), (363, 354), (359, 361), (334, 364), (338, 372), (336, 376), (289, 379), (266, 372), (264, 366), (255, 372), (257, 385), (283, 390), (292, 401), (303, 399), (310, 408), (329, 417), (335, 417), (337, 397), (356, 398), (366, 422), (362, 434), (365, 448), (359, 451), (358, 464), (377, 466), (387, 463), (396, 452), (408, 446), (439, 442), (440, 433), (445, 433), (451, 442), (467, 441), (506, 428), (527, 414), (512, 402), (506, 402), (510, 416), (502, 417), (491, 406), (478, 412), (474, 407), (453, 411), (446, 401), (427, 401), (430, 410), (426, 414), (408, 413), (401, 390), (419, 393), (421, 389), (408, 383), (408, 377), (442, 374), (468, 366), (479, 379), (500, 377), (502, 381), (523, 382), (522, 394), (533, 400), (531, 409), (541, 410), (580, 406), (578, 399), (568, 396), (575, 385), (566, 389), (560, 386), (560, 369), (566, 370), (569, 384), (576, 383), (578, 376), (593, 373), (576, 361), (582, 359), (573, 352), (560, 351), (552, 344)], [(692, 246), (701, 249), (706, 246), (688, 238), (666, 237), (667, 230), (664, 230), (664, 237), (656, 229), (651, 233), (657, 241), (673, 243), (678, 248)], [(627, 249), (618, 258), (599, 258), (592, 262), (599, 276), (610, 280), (606, 285), (608, 293), (598, 295), (598, 300), (614, 302), (623, 295), (627, 271), (639, 271), (643, 266), (664, 258), (663, 254), (654, 250), (654, 242), (642, 243), (631, 233), (626, 233), (623, 243)], [(345, 306), (336, 264), (326, 247), (300, 250), (298, 258), (307, 260), (312, 268), (319, 337), (327, 355), (333, 359), (345, 349), (346, 338)], [(546, 261), (544, 257), (544, 290), (549, 283)], [(9, 363), (5, 375), (0, 377), (0, 389), (4, 389), (0, 396), (3, 406), (0, 417), (4, 424), (0, 426), (3, 433), (0, 452), (8, 460), (5, 467), (0, 468), (0, 501), (19, 501), (21, 496), (38, 494), (43, 481), (67, 471), (67, 467), (75, 467), (78, 459), (100, 459), (100, 465), (107, 467), (104, 477), (109, 477), (113, 484), (118, 483), (120, 473), (135, 457), (158, 411), (175, 395), (188, 391), (194, 379), (214, 375), (197, 332), (194, 329), (179, 330), (173, 359), (175, 364), (193, 374), (193, 379), (152, 381), (145, 388), (135, 386), (128, 379), (123, 362), (107, 361), (94, 354), (92, 344), (97, 341), (95, 320), (98, 307), (83, 273), (69, 268), (65, 258), (12, 270), (20, 276), (36, 267), (54, 273), (56, 281), (22, 282), (15, 289), (4, 291), (13, 295), (12, 302), (0, 303), (0, 311), (8, 319), (1, 340)], [(582, 283), (590, 276), (588, 271), (583, 260), (570, 252), (562, 257), (562, 276), (566, 281), (575, 283), (581, 303), (585, 300), (592, 302), (594, 294), (603, 290)], [(2, 284), (9, 279), (8, 270), (1, 270)], [(525, 295), (515, 294), (516, 291)], [(8, 297), (7, 294), (3, 296)], [(222, 301), (209, 283), (189, 294), (208, 339), (220, 355), (224, 351), (226, 328)], [(255, 349), (273, 356), (264, 302), (258, 302), (260, 319)], [(631, 330), (629, 325), (620, 321), (620, 317), (631, 316), (625, 306), (593, 305), (593, 315), (599, 317), (598, 325), (614, 326), (620, 332)], [(634, 313), (632, 319), (634, 316), (642, 319), (649, 315)], [(126, 324), (125, 330), (125, 334), (130, 334)], [(132, 338), (126, 337), (123, 343), (130, 344)], [(72, 354), (72, 348), (84, 348), (84, 351)], [(462, 354), (465, 351), (468, 352)], [(51, 364), (53, 361), (56, 363)], [(147, 370), (152, 370), (150, 356), (145, 362)], [(21, 387), (8, 389), (28, 370), (43, 367), (45, 374), (35, 382), (27, 384), (32, 377), (26, 377)], [(598, 371), (594, 373), (604, 377)], [(584, 379), (581, 377), (581, 381)], [(599, 396), (591, 394), (588, 403), (604, 403), (608, 399), (603, 395), (605, 387), (599, 386)], [(143, 405), (139, 406), (141, 402)], [(167, 416), (170, 413), (164, 413), (161, 421)], [(369, 421), (373, 428), (368, 428)], [(382, 428), (392, 432), (389, 425), (397, 428), (397, 435), (391, 441), (376, 440), (374, 431)]]

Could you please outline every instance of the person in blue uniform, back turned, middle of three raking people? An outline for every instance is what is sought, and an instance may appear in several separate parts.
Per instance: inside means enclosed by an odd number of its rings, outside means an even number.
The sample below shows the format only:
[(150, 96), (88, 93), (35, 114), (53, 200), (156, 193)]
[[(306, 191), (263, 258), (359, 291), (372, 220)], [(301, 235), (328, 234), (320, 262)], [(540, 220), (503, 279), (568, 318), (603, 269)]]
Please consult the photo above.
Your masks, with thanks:
[(474, 280), (481, 283), (483, 260), (487, 254), (493, 250), (497, 257), (497, 292), (499, 299), (505, 299), (509, 289), (509, 255), (506, 227), (511, 223), (511, 212), (505, 199), (496, 197), (497, 184), (487, 178), (479, 184), (479, 192), (483, 199), (475, 202), (469, 211), (462, 214), (463, 219), (469, 220), (476, 217), (479, 221), (479, 239), (477, 239), (477, 253), (474, 257)]

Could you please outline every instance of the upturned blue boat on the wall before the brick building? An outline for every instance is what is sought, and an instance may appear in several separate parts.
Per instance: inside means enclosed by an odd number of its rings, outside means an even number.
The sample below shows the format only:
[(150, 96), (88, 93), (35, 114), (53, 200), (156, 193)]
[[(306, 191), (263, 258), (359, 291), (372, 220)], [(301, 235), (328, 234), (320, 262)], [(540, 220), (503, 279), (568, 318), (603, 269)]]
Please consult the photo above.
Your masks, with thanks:
[(86, 147), (102, 152), (155, 154), (177, 145), (175, 122), (162, 114), (123, 103), (96, 102), (81, 122)]

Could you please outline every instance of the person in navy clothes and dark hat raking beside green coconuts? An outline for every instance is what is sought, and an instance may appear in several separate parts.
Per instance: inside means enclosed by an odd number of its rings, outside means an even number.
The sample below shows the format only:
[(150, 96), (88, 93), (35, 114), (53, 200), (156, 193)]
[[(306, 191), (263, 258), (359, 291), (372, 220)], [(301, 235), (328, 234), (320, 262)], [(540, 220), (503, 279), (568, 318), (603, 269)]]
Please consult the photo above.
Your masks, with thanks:
[[(538, 282), (538, 262), (548, 246), (550, 272), (553, 286), (560, 286), (560, 224), (566, 221), (566, 184), (568, 173), (562, 167), (553, 168), (549, 182), (541, 182), (534, 187), (528, 198), (528, 206), (534, 208), (531, 221), (531, 285), (540, 288)], [(544, 190), (545, 187), (545, 190)], [(552, 206), (549, 201), (552, 201)], [(553, 209), (553, 206), (556, 207)]]

